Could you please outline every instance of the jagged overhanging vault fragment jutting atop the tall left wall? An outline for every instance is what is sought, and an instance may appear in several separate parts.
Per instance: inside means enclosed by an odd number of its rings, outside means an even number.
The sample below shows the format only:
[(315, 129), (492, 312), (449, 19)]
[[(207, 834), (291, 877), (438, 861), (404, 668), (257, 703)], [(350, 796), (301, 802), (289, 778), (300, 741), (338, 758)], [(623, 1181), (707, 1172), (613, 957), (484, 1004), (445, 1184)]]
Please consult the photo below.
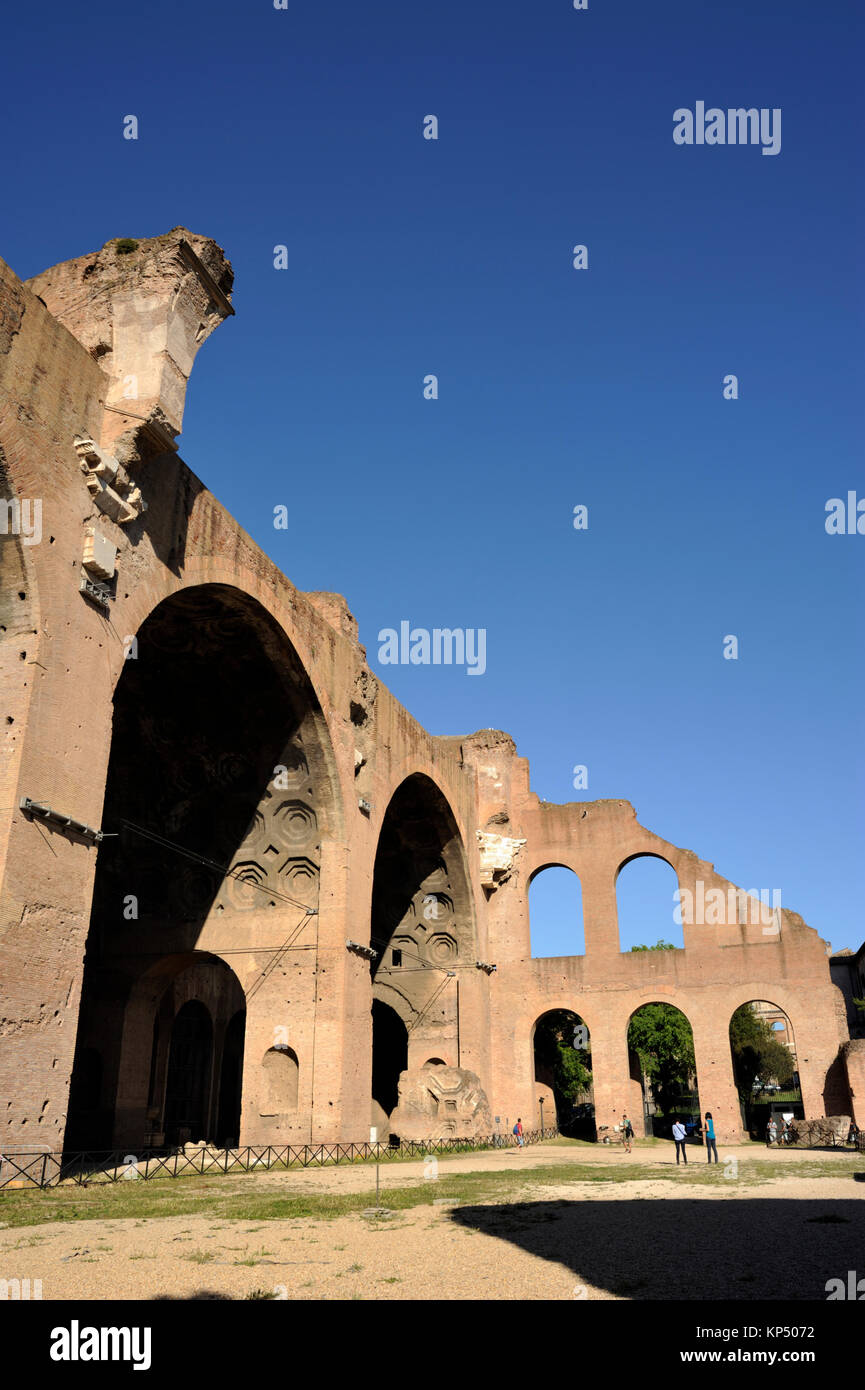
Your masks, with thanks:
[(175, 227), (142, 240), (115, 238), (26, 284), (108, 377), (97, 442), (135, 441), (145, 421), (156, 445), (172, 448), (195, 354), (234, 314), (223, 249)]

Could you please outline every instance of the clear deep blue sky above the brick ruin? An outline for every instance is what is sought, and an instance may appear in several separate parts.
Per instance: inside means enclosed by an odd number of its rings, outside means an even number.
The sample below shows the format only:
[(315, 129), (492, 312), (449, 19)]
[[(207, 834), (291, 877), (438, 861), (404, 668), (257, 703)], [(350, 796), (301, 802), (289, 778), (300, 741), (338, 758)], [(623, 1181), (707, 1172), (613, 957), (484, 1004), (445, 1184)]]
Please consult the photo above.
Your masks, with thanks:
[[(178, 224), (225, 247), (182, 455), (346, 595), (413, 714), (508, 730), (538, 795), (629, 798), (836, 948), (865, 934), (865, 537), (823, 527), (865, 495), (861, 65), (854, 0), (49, 0), (0, 93), (19, 275)], [(780, 154), (676, 146), (698, 100), (780, 107)], [(378, 667), (401, 619), (485, 628), (485, 674)], [(670, 935), (641, 901), (623, 945)]]

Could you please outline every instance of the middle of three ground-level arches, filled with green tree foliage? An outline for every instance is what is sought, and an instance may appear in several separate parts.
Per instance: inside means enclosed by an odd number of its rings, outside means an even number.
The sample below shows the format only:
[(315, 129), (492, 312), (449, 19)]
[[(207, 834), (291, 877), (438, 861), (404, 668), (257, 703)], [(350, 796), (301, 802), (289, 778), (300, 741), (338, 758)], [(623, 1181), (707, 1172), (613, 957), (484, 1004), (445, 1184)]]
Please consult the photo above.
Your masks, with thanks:
[(673, 1122), (688, 1138), (700, 1131), (700, 1091), (694, 1033), (673, 1004), (642, 1004), (627, 1024), (629, 1118), (636, 1134), (669, 1138)]

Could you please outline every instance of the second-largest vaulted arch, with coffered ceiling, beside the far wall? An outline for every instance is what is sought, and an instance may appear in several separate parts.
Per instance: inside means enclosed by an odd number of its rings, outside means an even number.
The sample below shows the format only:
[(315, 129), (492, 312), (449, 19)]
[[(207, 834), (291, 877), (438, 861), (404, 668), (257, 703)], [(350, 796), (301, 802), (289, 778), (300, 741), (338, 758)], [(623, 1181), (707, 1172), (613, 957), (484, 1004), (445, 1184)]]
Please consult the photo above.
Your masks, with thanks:
[(460, 976), (477, 969), (474, 908), (456, 820), (417, 773), (396, 790), (373, 873), (373, 1119), (389, 1123), (399, 1073), (460, 1065)]

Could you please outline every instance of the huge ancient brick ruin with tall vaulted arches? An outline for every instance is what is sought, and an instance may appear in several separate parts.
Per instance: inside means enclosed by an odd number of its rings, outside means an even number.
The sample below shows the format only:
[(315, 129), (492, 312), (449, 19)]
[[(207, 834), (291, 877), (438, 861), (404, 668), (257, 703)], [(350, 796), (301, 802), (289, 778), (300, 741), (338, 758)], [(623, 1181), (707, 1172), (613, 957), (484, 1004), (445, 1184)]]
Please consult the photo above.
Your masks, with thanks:
[[(0, 538), (0, 1150), (531, 1127), (558, 1008), (612, 1126), (642, 1112), (626, 1040), (651, 1001), (687, 1015), (722, 1141), (752, 999), (793, 1022), (805, 1115), (865, 1125), (865, 1044), (814, 929), (754, 920), (626, 801), (541, 802), (506, 734), (427, 734), (345, 599), (295, 589), (185, 467), (231, 285), (184, 228), (28, 284), (0, 263), (0, 495), (42, 507), (38, 542)], [(725, 903), (684, 949), (620, 951), (640, 855)], [(580, 878), (583, 956), (531, 959), (551, 865)]]

